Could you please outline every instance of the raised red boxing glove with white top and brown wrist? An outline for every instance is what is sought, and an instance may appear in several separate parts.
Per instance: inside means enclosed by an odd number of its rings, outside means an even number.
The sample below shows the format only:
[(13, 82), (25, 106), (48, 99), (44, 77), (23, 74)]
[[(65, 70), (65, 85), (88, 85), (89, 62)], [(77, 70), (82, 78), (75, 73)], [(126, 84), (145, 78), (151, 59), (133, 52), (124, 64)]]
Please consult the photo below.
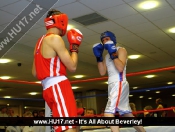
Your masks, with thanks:
[(78, 29), (70, 29), (67, 32), (67, 39), (70, 44), (70, 52), (77, 52), (83, 39), (83, 34)]

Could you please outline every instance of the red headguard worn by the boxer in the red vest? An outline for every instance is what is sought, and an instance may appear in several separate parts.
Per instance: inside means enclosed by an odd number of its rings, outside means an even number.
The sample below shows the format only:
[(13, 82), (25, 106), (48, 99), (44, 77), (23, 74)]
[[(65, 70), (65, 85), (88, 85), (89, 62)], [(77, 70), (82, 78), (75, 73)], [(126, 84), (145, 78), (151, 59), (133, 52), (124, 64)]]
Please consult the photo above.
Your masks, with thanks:
[(61, 36), (64, 36), (67, 31), (68, 17), (66, 14), (52, 15), (44, 20), (46, 29), (57, 27), (62, 30)]

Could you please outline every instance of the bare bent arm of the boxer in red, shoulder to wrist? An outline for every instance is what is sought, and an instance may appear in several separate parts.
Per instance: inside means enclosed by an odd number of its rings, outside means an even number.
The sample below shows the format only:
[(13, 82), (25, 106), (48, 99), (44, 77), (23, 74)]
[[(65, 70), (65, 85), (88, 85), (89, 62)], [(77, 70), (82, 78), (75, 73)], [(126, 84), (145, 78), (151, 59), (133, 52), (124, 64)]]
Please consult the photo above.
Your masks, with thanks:
[(78, 62), (78, 55), (76, 52), (72, 52), (71, 55), (69, 54), (68, 50), (65, 47), (65, 43), (63, 39), (58, 36), (54, 35), (51, 38), (51, 47), (57, 53), (63, 64), (70, 72), (75, 72), (77, 68)]

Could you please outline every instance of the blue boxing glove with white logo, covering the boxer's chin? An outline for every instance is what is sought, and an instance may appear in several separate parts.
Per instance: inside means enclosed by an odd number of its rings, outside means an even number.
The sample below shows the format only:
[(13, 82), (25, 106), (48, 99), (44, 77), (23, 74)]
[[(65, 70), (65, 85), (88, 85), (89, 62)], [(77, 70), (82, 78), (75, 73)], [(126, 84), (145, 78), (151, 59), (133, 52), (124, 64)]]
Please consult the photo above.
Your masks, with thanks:
[(116, 46), (115, 46), (113, 41), (107, 41), (104, 44), (104, 48), (106, 50), (108, 50), (108, 53), (110, 54), (110, 57), (111, 57), (112, 60), (118, 58), (117, 48), (116, 48)]

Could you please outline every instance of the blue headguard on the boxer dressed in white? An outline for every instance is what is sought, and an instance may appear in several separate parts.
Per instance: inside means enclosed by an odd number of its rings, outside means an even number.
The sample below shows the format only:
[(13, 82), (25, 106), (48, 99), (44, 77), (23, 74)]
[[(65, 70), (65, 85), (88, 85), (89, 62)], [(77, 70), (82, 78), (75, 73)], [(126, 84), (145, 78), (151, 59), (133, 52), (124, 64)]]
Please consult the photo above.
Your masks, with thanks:
[(110, 39), (114, 42), (114, 44), (117, 44), (117, 39), (114, 33), (110, 32), (110, 31), (105, 31), (103, 33), (101, 33), (100, 36), (100, 40), (102, 42), (102, 39), (105, 37), (110, 37)]

